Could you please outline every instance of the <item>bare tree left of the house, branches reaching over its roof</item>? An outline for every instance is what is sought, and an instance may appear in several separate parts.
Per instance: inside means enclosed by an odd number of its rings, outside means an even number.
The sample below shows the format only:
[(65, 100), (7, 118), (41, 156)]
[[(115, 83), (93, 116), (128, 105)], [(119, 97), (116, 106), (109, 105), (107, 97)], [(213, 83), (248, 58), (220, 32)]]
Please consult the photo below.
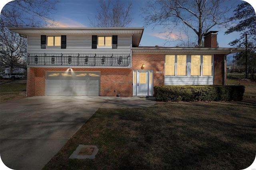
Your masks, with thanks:
[[(0, 15), (0, 65), (24, 68), (26, 63), (26, 38), (8, 27), (48, 27), (58, 0), (14, 0), (4, 6)], [(50, 24), (49, 24), (50, 23)]]

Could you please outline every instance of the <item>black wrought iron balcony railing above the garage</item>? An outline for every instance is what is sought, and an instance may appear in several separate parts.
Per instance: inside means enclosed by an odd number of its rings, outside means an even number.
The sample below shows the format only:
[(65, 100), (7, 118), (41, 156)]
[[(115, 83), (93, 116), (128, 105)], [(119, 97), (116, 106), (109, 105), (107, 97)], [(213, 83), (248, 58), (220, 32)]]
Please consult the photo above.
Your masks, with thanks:
[(130, 54), (28, 53), (30, 66), (129, 66)]

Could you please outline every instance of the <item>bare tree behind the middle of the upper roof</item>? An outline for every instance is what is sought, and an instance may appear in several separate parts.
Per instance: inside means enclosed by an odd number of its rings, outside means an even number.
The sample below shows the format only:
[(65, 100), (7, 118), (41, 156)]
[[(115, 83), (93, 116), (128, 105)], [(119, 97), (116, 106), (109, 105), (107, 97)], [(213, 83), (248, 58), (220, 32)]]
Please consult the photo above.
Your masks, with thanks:
[[(126, 7), (120, 0), (100, 0), (100, 9), (95, 20), (90, 20), (93, 27), (127, 27), (133, 20), (132, 4)], [(116, 2), (115, 4), (113, 2)]]

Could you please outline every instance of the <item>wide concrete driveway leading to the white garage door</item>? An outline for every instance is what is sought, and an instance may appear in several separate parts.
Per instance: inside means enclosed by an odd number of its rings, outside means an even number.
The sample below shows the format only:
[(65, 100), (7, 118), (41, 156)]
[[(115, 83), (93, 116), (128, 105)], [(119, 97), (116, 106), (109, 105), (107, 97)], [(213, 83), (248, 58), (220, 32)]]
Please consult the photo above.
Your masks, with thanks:
[(16, 170), (40, 170), (99, 108), (149, 107), (138, 97), (46, 96), (0, 104), (0, 154)]

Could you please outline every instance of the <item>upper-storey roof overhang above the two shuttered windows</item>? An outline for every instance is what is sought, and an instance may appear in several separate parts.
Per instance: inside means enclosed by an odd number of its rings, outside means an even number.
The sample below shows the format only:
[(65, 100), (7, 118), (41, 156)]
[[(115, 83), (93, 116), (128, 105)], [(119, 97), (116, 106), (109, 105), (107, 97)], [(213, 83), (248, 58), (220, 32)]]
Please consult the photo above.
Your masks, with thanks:
[(23, 36), (54, 34), (88, 34), (88, 35), (132, 35), (132, 46), (138, 47), (144, 28), (9, 28)]

